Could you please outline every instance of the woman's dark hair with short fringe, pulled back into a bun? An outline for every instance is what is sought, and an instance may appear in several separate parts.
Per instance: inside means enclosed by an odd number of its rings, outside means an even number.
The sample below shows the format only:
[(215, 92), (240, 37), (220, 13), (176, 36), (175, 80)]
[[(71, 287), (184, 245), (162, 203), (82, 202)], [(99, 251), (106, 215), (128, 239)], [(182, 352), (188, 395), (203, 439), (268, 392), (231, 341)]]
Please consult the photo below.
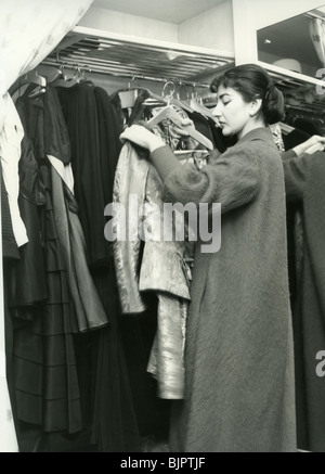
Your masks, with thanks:
[(262, 99), (261, 113), (266, 125), (281, 121), (285, 115), (283, 93), (275, 87), (268, 72), (256, 64), (244, 64), (229, 69), (223, 76), (212, 80), (210, 89), (218, 92), (220, 86), (236, 90), (245, 102)]

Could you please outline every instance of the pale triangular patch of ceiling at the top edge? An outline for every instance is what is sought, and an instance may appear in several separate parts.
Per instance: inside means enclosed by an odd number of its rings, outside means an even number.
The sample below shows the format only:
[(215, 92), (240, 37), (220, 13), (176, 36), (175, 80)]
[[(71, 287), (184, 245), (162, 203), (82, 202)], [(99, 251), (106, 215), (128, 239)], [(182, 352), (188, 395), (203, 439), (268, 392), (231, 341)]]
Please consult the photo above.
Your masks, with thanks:
[(225, 0), (94, 0), (92, 7), (180, 24)]

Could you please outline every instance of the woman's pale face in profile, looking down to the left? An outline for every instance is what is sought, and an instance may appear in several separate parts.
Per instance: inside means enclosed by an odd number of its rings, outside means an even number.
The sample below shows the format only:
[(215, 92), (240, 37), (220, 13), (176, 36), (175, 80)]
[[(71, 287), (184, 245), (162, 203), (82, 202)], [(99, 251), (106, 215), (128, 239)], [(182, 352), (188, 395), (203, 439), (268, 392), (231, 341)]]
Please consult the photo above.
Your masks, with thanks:
[(219, 87), (218, 104), (213, 111), (222, 133), (225, 137), (244, 137), (250, 129), (253, 110), (252, 103), (244, 101), (243, 95), (231, 87)]

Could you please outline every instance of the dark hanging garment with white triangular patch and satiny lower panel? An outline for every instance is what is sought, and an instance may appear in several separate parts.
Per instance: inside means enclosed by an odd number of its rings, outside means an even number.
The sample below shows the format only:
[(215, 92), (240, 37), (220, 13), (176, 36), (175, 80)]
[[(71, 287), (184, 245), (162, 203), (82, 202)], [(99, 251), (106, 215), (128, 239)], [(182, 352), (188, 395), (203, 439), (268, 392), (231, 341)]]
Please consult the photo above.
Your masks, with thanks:
[(72, 179), (68, 185), (66, 178), (67, 175), (72, 176), (68, 132), (56, 90), (49, 88), (43, 101), (44, 152), (54, 168), (51, 170), (53, 212), (69, 293), (79, 331), (93, 330), (107, 324), (108, 320), (86, 261), (86, 243), (78, 217), (78, 205), (73, 194)]

